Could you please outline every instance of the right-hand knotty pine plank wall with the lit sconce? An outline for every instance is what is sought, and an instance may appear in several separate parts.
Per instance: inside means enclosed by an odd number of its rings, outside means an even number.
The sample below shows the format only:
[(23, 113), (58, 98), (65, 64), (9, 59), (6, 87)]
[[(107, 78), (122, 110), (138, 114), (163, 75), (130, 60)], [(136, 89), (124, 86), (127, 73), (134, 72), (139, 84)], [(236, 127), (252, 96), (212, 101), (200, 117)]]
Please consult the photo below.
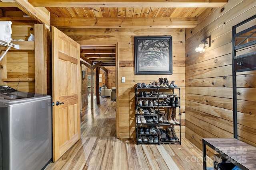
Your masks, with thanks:
[[(199, 16), (197, 27), (186, 29), (185, 131), (199, 149), (202, 138), (233, 137), (232, 26), (255, 14), (256, 1), (229, 0), (207, 18)], [(209, 36), (211, 46), (196, 53), (194, 49)], [(238, 92), (243, 94), (238, 96), (238, 138), (254, 146), (255, 73), (243, 72), (237, 78)]]

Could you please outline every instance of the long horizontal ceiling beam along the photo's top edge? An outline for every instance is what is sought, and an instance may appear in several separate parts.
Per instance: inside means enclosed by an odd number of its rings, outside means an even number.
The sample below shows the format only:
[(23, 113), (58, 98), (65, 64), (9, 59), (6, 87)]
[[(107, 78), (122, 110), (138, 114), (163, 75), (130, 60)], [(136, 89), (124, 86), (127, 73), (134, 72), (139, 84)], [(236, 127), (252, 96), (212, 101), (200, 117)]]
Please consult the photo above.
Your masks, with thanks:
[(28, 0), (38, 7), (218, 8), (228, 0)]

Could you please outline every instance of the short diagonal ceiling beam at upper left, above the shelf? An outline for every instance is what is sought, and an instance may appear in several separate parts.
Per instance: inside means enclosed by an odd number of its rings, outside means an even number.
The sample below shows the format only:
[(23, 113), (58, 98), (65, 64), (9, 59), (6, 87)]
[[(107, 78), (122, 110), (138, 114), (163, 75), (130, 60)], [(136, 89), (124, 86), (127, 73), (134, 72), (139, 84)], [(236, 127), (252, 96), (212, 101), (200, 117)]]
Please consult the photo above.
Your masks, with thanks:
[(44, 7), (34, 7), (26, 0), (13, 0), (17, 7), (50, 29), (50, 12)]

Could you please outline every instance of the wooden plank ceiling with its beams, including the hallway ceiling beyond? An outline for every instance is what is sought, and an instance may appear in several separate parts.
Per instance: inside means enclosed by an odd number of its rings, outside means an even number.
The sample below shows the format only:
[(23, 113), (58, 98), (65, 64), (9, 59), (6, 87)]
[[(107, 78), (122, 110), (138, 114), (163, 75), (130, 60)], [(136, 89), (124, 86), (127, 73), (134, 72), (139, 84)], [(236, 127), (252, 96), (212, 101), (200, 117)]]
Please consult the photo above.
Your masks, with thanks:
[[(228, 0), (0, 0), (2, 17), (21, 7), (50, 12), (58, 28), (192, 28)], [(6, 15), (6, 16), (5, 16)], [(38, 15), (38, 18), (40, 16)], [(44, 23), (45, 17), (39, 20)], [(50, 27), (50, 25), (49, 25)], [(81, 47), (81, 56), (101, 66), (115, 66), (115, 46)]]

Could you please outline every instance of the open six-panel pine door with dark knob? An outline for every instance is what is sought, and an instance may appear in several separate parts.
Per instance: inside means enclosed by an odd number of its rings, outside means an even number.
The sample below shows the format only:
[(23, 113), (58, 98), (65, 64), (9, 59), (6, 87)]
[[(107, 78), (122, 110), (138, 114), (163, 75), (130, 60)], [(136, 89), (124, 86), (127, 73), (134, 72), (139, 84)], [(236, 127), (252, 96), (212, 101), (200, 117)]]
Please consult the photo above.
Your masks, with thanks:
[(80, 82), (80, 45), (52, 27), (54, 162), (80, 139)]

